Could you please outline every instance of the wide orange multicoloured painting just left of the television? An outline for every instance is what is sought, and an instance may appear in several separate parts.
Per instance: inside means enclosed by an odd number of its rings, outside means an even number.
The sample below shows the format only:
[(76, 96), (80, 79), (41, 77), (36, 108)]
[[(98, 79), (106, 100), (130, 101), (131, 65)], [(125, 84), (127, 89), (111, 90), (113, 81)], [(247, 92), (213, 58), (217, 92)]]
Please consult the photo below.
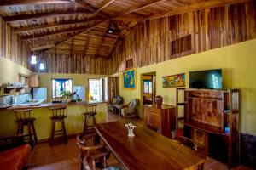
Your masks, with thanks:
[(163, 88), (176, 88), (185, 86), (185, 73), (162, 77)]

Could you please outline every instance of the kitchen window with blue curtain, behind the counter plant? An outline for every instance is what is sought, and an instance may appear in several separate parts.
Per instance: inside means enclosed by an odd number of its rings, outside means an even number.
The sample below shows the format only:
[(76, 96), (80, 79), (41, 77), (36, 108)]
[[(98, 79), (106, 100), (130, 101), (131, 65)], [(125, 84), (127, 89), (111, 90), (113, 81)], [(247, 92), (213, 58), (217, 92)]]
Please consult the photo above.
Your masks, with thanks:
[(72, 92), (72, 79), (52, 79), (52, 98), (61, 98), (64, 90)]

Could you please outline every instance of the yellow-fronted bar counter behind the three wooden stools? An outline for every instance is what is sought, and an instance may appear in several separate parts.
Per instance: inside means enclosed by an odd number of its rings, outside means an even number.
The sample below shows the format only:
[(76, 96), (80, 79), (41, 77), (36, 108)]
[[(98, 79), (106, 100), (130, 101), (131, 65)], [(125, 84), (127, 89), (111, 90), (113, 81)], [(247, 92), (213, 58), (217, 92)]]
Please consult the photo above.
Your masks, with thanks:
[[(49, 107), (53, 106), (67, 106), (65, 115), (65, 125), (67, 135), (73, 135), (83, 132), (84, 127), (84, 105), (85, 104), (97, 104), (96, 107), (96, 122), (107, 121), (107, 103), (103, 101), (91, 101), (91, 102), (76, 102), (76, 103), (46, 103), (37, 106), (29, 105), (15, 105), (6, 109), (0, 109), (0, 137), (15, 135), (17, 131), (16, 115), (14, 110), (20, 109), (32, 109), (31, 117), (36, 118), (34, 122), (38, 140), (45, 141), (49, 139), (52, 112)], [(60, 128), (60, 124), (57, 124), (56, 129)], [(25, 129), (26, 130), (26, 129)]]

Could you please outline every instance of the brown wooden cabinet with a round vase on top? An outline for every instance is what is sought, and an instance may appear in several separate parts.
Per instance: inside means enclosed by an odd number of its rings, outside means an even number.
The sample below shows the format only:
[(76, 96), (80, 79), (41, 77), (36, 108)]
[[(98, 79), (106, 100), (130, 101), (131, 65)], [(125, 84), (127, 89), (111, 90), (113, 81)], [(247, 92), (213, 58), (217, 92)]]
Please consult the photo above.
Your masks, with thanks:
[(153, 127), (157, 132), (171, 138), (171, 131), (175, 127), (175, 106), (144, 105), (144, 125)]

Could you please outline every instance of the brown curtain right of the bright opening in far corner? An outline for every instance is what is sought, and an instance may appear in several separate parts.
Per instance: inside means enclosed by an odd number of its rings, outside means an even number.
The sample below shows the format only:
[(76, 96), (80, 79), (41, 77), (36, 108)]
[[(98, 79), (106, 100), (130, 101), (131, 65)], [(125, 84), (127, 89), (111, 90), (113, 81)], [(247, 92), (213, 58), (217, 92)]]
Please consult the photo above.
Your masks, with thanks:
[(119, 77), (108, 77), (108, 102), (111, 103), (116, 95), (119, 95)]

